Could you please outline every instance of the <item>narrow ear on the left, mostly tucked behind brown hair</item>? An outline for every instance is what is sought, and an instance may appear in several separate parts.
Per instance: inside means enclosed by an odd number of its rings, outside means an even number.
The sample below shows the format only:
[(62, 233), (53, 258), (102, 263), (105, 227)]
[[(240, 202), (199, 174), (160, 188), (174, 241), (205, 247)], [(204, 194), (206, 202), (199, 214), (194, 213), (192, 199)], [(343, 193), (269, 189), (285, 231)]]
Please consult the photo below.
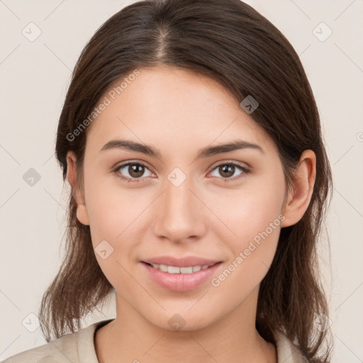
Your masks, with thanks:
[(67, 152), (67, 180), (72, 188), (73, 197), (77, 203), (77, 219), (84, 225), (89, 225), (86, 203), (82, 191), (79, 189), (79, 176), (77, 175), (77, 157), (74, 152)]

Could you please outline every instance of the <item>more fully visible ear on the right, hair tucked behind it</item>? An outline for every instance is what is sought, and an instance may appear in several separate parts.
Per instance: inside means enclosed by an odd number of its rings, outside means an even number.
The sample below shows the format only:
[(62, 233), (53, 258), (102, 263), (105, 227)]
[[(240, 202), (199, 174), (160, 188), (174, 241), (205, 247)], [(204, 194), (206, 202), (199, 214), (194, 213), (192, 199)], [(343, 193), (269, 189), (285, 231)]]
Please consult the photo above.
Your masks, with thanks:
[(293, 186), (288, 191), (282, 213), (281, 228), (298, 223), (306, 212), (313, 195), (316, 176), (316, 157), (313, 150), (304, 150), (294, 172)]

